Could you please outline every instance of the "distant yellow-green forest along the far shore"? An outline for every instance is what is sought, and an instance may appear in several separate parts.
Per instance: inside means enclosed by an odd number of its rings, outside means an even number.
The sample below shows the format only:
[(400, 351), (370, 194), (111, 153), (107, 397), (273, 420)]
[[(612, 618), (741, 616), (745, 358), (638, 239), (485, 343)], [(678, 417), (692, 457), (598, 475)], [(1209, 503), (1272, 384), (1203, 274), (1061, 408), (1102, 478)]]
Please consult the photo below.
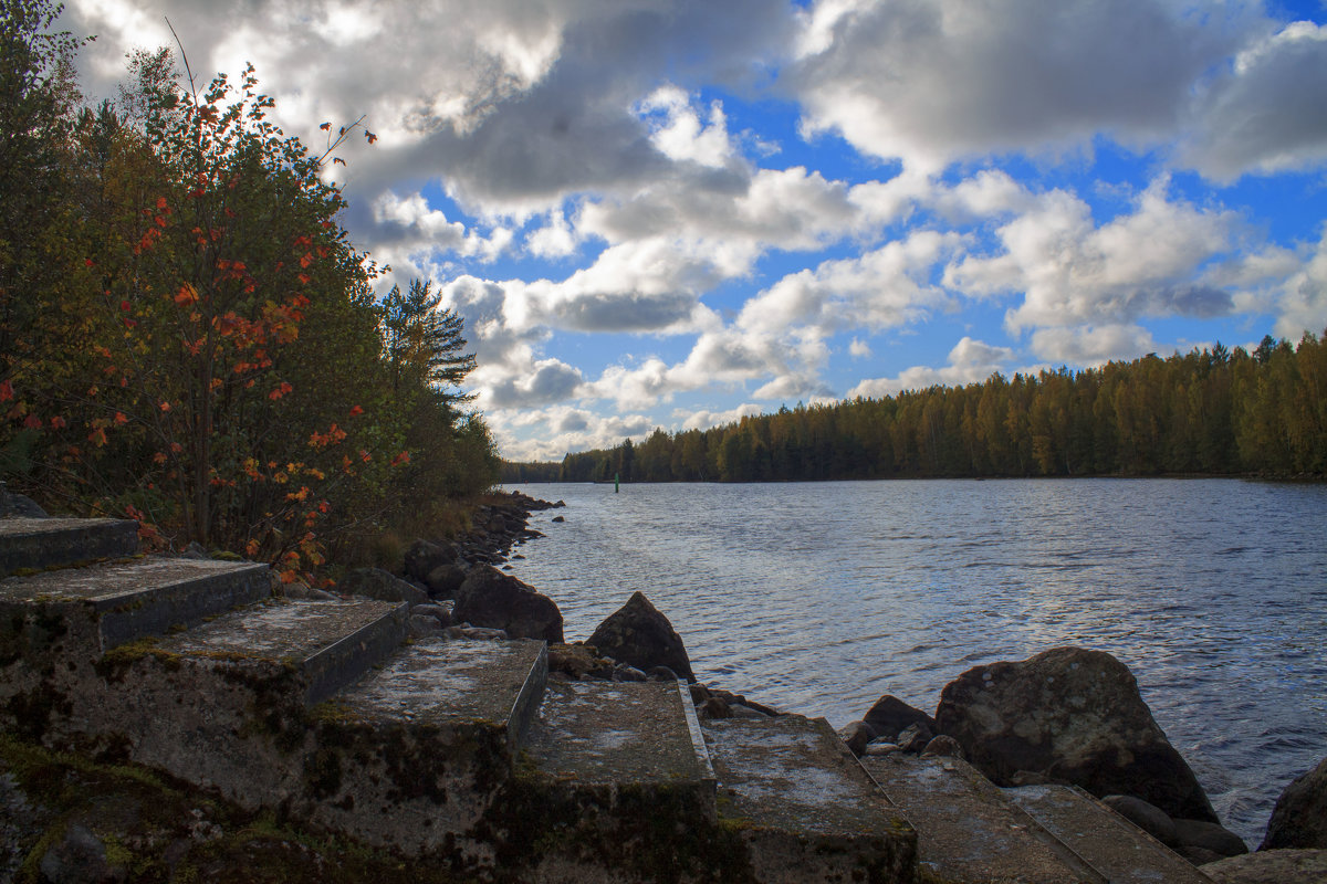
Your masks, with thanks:
[[(1327, 331), (1324, 331), (1327, 338)], [(1327, 474), (1327, 342), (1270, 335), (1099, 368), (780, 408), (624, 440), (503, 481)]]

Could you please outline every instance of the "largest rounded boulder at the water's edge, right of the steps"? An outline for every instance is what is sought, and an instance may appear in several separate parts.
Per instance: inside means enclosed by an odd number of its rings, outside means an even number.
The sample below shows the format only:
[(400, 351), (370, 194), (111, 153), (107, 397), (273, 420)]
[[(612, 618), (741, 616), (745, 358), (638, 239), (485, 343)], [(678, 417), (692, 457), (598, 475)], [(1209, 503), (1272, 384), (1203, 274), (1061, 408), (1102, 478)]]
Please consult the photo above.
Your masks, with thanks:
[(936, 725), (997, 785), (1034, 774), (1099, 798), (1135, 795), (1172, 818), (1220, 822), (1133, 673), (1109, 653), (1052, 648), (969, 669), (945, 685)]

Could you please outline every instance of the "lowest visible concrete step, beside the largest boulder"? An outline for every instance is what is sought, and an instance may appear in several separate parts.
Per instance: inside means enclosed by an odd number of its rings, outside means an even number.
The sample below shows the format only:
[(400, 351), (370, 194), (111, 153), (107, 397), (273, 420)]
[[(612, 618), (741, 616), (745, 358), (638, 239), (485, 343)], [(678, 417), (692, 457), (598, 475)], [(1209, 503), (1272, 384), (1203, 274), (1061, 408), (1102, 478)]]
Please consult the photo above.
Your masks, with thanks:
[(1212, 884), (1192, 863), (1070, 786), (1022, 786), (1005, 794), (1111, 884)]

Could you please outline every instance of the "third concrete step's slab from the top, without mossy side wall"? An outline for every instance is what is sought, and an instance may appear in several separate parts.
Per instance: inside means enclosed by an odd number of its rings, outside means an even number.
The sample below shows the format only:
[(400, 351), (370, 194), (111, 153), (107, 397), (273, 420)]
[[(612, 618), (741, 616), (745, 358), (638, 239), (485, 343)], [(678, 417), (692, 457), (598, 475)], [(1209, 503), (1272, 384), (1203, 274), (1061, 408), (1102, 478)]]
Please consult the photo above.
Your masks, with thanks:
[(283, 663), (299, 669), (304, 701), (317, 702), (386, 659), (407, 631), (405, 602), (271, 600), (155, 643), (183, 657)]

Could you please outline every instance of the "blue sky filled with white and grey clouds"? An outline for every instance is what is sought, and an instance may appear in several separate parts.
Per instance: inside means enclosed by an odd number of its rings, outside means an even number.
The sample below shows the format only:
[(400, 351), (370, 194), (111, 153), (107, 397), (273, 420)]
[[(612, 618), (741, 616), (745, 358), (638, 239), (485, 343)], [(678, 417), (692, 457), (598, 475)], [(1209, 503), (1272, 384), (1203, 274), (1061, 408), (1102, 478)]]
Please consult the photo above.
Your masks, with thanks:
[(1320, 0), (65, 0), (256, 66), (502, 453), (1327, 329)]

